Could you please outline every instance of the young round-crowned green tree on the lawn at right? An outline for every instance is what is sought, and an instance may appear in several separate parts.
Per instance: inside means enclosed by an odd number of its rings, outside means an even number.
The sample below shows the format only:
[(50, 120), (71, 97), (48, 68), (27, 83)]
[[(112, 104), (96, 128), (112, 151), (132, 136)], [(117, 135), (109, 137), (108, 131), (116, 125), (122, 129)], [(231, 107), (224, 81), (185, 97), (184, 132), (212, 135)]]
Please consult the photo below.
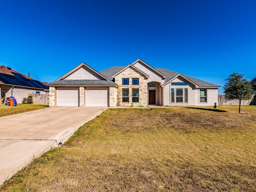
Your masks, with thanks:
[(224, 97), (229, 100), (239, 99), (240, 113), (241, 100), (251, 99), (253, 96), (252, 84), (239, 73), (233, 73), (225, 80), (227, 82), (223, 87)]

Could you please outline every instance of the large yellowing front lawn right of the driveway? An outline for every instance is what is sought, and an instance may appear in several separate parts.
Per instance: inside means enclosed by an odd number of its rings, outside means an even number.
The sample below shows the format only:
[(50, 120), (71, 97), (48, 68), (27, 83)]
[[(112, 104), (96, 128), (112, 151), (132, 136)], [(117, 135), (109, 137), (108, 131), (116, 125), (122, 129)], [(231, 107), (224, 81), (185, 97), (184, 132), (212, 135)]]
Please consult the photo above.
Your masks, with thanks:
[(0, 191), (256, 191), (255, 117), (256, 106), (108, 109)]

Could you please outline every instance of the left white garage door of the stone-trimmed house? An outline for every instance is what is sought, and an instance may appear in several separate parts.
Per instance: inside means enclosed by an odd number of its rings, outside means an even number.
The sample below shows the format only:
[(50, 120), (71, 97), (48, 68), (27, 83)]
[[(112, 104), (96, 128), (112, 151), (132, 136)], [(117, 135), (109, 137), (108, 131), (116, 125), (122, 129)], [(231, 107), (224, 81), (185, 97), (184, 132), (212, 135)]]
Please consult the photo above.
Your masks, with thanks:
[(78, 106), (78, 87), (57, 87), (57, 106)]

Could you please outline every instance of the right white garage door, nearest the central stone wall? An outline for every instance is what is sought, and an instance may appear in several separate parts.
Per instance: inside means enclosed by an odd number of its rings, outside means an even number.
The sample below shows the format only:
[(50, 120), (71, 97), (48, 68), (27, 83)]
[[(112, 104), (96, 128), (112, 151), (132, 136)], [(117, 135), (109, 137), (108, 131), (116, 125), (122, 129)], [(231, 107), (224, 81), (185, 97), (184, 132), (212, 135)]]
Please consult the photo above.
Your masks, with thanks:
[(85, 106), (107, 107), (108, 88), (85, 88)]

